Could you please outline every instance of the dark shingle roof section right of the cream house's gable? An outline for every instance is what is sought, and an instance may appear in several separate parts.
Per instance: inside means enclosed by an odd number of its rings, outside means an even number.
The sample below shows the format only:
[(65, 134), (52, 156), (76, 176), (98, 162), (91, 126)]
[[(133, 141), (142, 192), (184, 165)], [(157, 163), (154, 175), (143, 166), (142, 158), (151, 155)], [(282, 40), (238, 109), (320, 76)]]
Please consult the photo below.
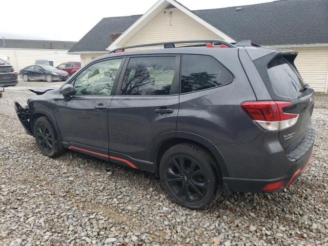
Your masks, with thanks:
[(193, 11), (233, 39), (258, 45), (328, 43), (327, 0), (283, 0)]

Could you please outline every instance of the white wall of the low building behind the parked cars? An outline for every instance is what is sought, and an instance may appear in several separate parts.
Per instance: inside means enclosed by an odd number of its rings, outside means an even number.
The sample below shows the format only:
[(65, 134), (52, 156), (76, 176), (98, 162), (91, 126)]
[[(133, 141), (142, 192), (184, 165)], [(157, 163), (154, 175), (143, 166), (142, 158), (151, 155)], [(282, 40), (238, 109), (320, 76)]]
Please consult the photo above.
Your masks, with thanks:
[(10, 63), (16, 71), (35, 64), (35, 60), (52, 60), (56, 67), (67, 61), (80, 61), (79, 55), (69, 55), (68, 50), (39, 50), (39, 49), (3, 49), (1, 55), (8, 55)]

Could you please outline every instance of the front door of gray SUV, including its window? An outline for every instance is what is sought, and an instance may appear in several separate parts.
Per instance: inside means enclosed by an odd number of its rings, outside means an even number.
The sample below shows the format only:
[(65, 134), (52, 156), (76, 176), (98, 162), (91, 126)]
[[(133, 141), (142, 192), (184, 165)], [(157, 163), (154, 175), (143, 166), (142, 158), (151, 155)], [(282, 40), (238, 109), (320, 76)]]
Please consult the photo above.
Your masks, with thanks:
[(58, 97), (59, 131), (63, 141), (71, 142), (74, 150), (83, 152), (87, 148), (108, 159), (108, 109), (123, 60), (100, 60), (89, 65), (72, 80), (75, 95), (69, 100), (62, 95)]

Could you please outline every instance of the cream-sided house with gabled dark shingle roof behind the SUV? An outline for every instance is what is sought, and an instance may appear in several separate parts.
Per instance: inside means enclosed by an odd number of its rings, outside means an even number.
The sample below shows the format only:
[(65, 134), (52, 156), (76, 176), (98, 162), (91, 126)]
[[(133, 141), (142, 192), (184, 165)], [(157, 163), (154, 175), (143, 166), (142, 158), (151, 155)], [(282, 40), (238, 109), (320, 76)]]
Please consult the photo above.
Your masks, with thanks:
[(191, 11), (159, 0), (143, 15), (103, 18), (70, 50), (84, 65), (109, 50), (155, 42), (251, 39), (260, 46), (292, 49), (296, 66), (316, 92), (328, 90), (328, 1), (271, 3)]

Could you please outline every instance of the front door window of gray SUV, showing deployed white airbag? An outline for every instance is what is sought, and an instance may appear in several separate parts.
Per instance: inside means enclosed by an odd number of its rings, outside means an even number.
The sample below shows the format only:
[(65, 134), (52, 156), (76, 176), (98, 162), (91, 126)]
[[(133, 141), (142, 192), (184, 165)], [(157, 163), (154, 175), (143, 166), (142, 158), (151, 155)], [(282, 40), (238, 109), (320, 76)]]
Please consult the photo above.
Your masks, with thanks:
[(122, 59), (100, 61), (75, 79), (76, 95), (110, 95)]

